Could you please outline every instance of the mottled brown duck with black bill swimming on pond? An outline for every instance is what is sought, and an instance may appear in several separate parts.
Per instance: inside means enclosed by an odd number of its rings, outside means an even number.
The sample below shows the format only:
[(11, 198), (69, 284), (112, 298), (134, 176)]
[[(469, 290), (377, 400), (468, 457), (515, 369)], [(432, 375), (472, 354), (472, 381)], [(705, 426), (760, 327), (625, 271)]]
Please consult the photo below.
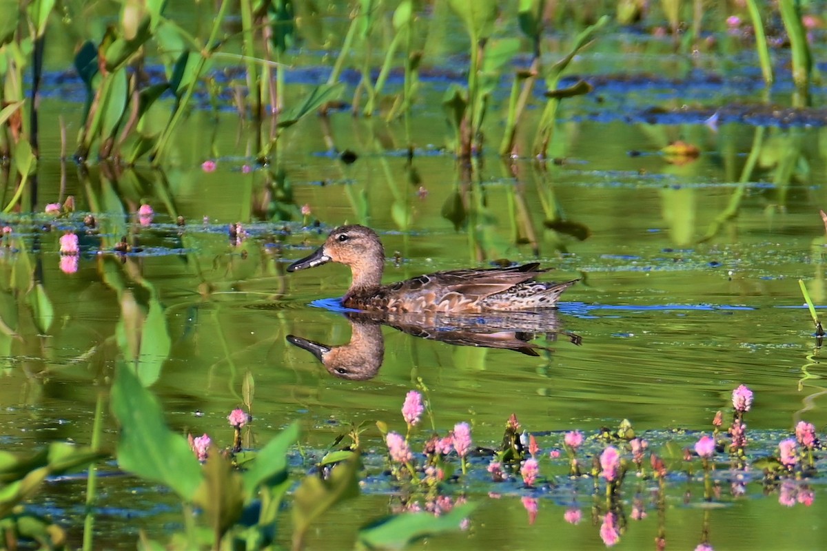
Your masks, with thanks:
[(361, 311), (480, 313), (557, 307), (560, 295), (580, 281), (537, 281), (548, 271), (533, 262), (507, 268), (466, 268), (426, 273), (382, 284), (385, 248), (367, 226), (339, 226), (324, 245), (287, 268), (289, 273), (334, 262), (351, 268), (342, 306)]

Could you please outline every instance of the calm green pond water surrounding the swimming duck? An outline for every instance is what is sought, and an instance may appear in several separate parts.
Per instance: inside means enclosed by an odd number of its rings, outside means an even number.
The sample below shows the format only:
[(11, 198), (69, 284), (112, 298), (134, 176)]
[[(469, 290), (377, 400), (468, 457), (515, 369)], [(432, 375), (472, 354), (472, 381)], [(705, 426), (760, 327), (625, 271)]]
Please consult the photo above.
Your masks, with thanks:
[[(150, 282), (163, 306), (171, 352), (152, 388), (170, 425), (231, 444), (226, 417), (241, 406), (242, 379), (249, 372), (256, 392), (246, 444), (259, 447), (299, 420), (308, 458), (301, 464), (293, 458), (297, 473), (350, 423), (383, 420), (404, 430), (399, 408), (418, 378), (430, 389), (437, 430), (469, 421), (476, 444), (484, 447), (499, 444), (511, 413), (538, 434), (545, 451), (562, 448), (563, 431), (591, 434), (624, 419), (654, 449), (673, 439), (690, 446), (696, 431), (711, 429), (715, 411), (729, 411), (732, 389), (741, 383), (756, 395), (748, 413), (751, 453), (774, 453), (777, 440), (798, 420), (814, 423), (824, 435), (822, 352), (801, 307), (798, 280), (805, 280), (817, 305), (827, 303), (825, 226), (819, 216), (827, 206), (825, 130), (767, 127), (756, 150), (757, 169), (739, 188), (757, 126), (724, 121), (712, 128), (703, 117), (690, 116), (647, 124), (639, 116), (653, 106), (680, 114), (684, 101), (699, 110), (755, 101), (753, 88), (735, 84), (711, 92), (693, 88), (692, 70), (743, 76), (738, 64), (711, 56), (693, 62), (665, 54), (667, 45), (614, 40), (578, 59), (576, 72), (611, 75), (629, 71), (626, 56), (645, 61), (662, 54), (648, 70), (686, 79), (675, 91), (669, 90), (674, 83), (624, 88), (618, 84), (623, 78), (607, 77), (603, 90), (564, 102), (552, 143), (559, 162), (542, 166), (531, 159), (504, 164), (493, 154), (471, 171), (458, 165), (442, 150), (447, 126), (439, 102), (447, 83), (440, 78), (425, 87), (409, 134), (401, 123), (385, 124), (378, 116), (309, 117), (290, 130), (278, 158), (265, 168), (251, 159), (255, 129), (231, 111), (192, 113), (179, 131), (173, 166), (163, 172), (93, 166), (85, 173), (60, 163), (57, 126), (47, 126), (32, 197), (38, 214), (9, 215), (3, 222), (42, 268), (55, 316), (42, 335), (26, 303), (11, 291), (20, 257), (4, 251), (0, 307), (6, 323), (15, 321), (17, 336), (0, 335), (7, 354), (0, 365), (3, 449), (24, 452), (54, 439), (88, 444), (98, 390), (107, 388), (120, 354), (116, 325), (122, 304), (107, 275), (112, 273), (121, 274), (139, 302), (147, 300), (141, 278)], [(624, 46), (607, 54), (617, 44)], [(299, 83), (290, 88), (294, 97), (307, 91)], [(786, 104), (787, 95), (781, 87), (773, 98)], [(501, 111), (504, 101), (498, 97), (492, 109)], [(55, 93), (43, 101), (41, 116), (52, 122), (65, 117), (71, 135), (78, 106)], [(499, 120), (491, 119), (489, 135), (499, 137)], [(528, 144), (530, 135), (519, 139)], [(677, 139), (697, 145), (700, 157), (667, 162), (658, 152)], [(409, 143), (416, 148), (413, 159), (406, 158)], [(327, 153), (330, 144), (359, 158), (344, 164)], [(796, 159), (793, 176), (773, 183), (785, 155)], [(217, 159), (214, 172), (201, 168), (206, 159)], [(246, 172), (245, 165), (253, 169)], [(6, 193), (8, 199), (11, 191)], [(723, 216), (738, 193), (743, 196), (737, 213)], [(50, 221), (40, 214), (45, 203), (69, 195), (75, 197), (74, 215)], [(129, 216), (141, 202), (155, 209), (151, 226)], [(299, 211), (303, 205), (312, 211), (306, 220)], [(82, 233), (88, 211), (110, 237), (130, 235), (140, 251), (125, 259), (96, 254), (98, 237), (84, 236), (78, 271), (64, 273), (59, 237), (68, 229)], [(177, 216), (184, 217), (184, 226), (176, 226)], [(249, 236), (232, 245), (227, 226), (237, 221)], [(320, 245), (327, 230), (346, 222), (380, 233), (389, 257), (386, 282), (487, 267), (496, 259), (539, 261), (556, 268), (550, 278), (582, 278), (564, 295), (558, 316), (582, 344), (559, 335), (552, 352), (531, 357), (452, 346), (385, 327), (385, 356), (373, 378), (332, 377), (285, 337), (347, 344), (347, 319), (311, 302), (341, 297), (350, 274), (337, 265), (293, 274), (285, 268)], [(103, 446), (113, 449), (117, 427), (111, 416), (104, 423)], [(380, 477), (384, 444), (370, 426), (363, 435), (373, 458), (368, 464), (370, 474)], [(544, 462), (547, 482), (529, 492), (514, 481), (489, 482), (483, 473), (487, 460), (476, 459), (475, 476), (447, 485), (452, 496), (480, 504), (468, 530), (414, 547), (604, 549), (601, 492), (595, 494), (588, 480), (563, 476), (564, 459)], [(818, 467), (824, 471), (827, 465), (821, 460)], [(676, 471), (681, 468), (686, 466)], [(114, 473), (113, 464), (104, 470), (112, 476), (99, 482), (96, 542), (102, 549), (132, 549), (138, 530), (162, 540), (179, 530), (182, 517), (173, 494)], [(750, 474), (743, 496), (733, 496), (729, 482), (735, 476), (720, 465), (721, 493), (708, 503), (697, 473), (690, 479), (676, 472), (658, 506), (657, 482), (630, 475), (616, 548), (648, 549), (656, 537), (665, 537), (670, 549), (694, 549), (705, 539), (715, 549), (823, 546), (823, 477), (810, 481), (811, 506), (787, 507), (779, 503), (778, 488), (762, 486), (760, 474)], [(50, 482), (31, 501), (67, 528), (74, 545), (83, 525), (84, 487), (83, 477)], [(386, 481), (372, 480), (364, 490), (323, 517), (308, 536), (308, 549), (349, 549), (361, 525), (399, 507), (399, 492)], [(538, 499), (533, 523), (524, 496)], [(631, 516), (636, 498), (646, 510), (640, 520)], [(576, 525), (563, 517), (574, 507), (582, 511)], [(288, 526), (280, 543), (289, 545)]]

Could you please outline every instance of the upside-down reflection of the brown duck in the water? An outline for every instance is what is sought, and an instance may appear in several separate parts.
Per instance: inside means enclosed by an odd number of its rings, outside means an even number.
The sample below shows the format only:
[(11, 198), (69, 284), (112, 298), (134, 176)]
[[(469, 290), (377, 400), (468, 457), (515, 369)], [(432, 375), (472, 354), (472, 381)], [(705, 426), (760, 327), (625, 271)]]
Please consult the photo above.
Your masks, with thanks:
[(557, 311), (508, 312), (485, 316), (459, 316), (436, 312), (418, 314), (387, 314), (381, 312), (347, 312), (351, 324), (351, 341), (331, 346), (295, 335), (287, 341), (308, 350), (323, 363), (327, 372), (338, 378), (364, 381), (374, 378), (385, 358), (385, 337), (382, 325), (389, 325), (421, 339), (439, 340), (455, 346), (481, 346), (514, 350), (528, 356), (539, 356), (547, 346), (531, 342), (544, 335), (547, 341), (565, 335), (573, 344), (581, 337), (561, 329)]

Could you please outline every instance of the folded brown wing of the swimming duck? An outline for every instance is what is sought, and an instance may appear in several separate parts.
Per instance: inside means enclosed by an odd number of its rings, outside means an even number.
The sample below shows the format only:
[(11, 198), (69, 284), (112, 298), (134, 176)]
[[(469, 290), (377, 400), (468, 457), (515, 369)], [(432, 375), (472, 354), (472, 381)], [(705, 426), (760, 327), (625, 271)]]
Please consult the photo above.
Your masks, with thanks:
[[(473, 305), (485, 297), (508, 291), (514, 285), (536, 278), (547, 270), (538, 263), (523, 264), (510, 268), (461, 269), (447, 272), (426, 273), (418, 278), (406, 279), (388, 287), (391, 302), (398, 297), (400, 303), (409, 304), (399, 311), (470, 311)], [(390, 305), (389, 305), (390, 306)]]

